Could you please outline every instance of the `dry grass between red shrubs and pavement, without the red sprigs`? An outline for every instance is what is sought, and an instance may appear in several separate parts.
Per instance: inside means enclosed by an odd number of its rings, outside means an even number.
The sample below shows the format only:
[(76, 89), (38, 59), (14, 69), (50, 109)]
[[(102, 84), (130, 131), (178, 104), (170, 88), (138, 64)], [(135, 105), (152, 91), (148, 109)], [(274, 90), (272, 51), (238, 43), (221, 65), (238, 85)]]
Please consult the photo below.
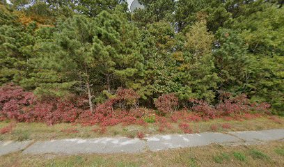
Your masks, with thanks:
[[(284, 118), (279, 118), (284, 122)], [(228, 131), (244, 131), (244, 130), (260, 130), (260, 129), (277, 129), (284, 128), (283, 124), (274, 122), (273, 120), (262, 117), (255, 118), (252, 120), (231, 120), (226, 121), (223, 119), (208, 120), (201, 122), (188, 122), (191, 129), (196, 132), (214, 132), (211, 128), (212, 125), (218, 125), (217, 132), (228, 132)], [(221, 125), (224, 123), (229, 123), (232, 127), (231, 129), (223, 129)], [(0, 122), (0, 129), (6, 127), (10, 124), (8, 121)], [(178, 123), (172, 124), (172, 129), (165, 128), (164, 132), (159, 132), (159, 127), (155, 123), (150, 123), (148, 127), (143, 127), (139, 125), (115, 125), (112, 127), (107, 127), (107, 132), (101, 134), (100, 132), (93, 132), (93, 129), (97, 129), (98, 126), (84, 127), (81, 125), (72, 125), (68, 123), (56, 124), (53, 126), (47, 126), (45, 123), (37, 122), (19, 122), (13, 129), (13, 132), (0, 135), (1, 140), (49, 140), (58, 138), (97, 138), (103, 136), (131, 136), (136, 137), (138, 132), (143, 132), (143, 134), (177, 134), (183, 133), (178, 127)], [(76, 129), (77, 133), (72, 133), (64, 131), (64, 129)], [(63, 130), (63, 132), (62, 132)]]

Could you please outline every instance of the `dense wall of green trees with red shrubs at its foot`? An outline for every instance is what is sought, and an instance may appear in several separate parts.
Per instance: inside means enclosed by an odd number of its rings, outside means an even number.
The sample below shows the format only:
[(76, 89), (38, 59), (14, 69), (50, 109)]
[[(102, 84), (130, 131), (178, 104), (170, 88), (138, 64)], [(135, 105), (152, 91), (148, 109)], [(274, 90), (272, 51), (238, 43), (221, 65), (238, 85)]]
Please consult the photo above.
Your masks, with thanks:
[(244, 103), (283, 116), (283, 1), (140, 3), (131, 12), (125, 0), (0, 1), (0, 118), (24, 120), (29, 106), (212, 116)]

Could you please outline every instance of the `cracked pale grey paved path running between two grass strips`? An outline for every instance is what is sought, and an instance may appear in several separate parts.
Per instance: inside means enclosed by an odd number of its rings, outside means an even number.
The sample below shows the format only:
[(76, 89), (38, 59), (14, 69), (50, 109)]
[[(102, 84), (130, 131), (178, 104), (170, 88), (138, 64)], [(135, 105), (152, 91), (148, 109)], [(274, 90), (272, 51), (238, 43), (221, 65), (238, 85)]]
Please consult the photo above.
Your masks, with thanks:
[(188, 148), (219, 143), (223, 145), (257, 144), (267, 141), (284, 141), (284, 129), (262, 131), (168, 134), (139, 138), (70, 138), (52, 141), (0, 141), (0, 156), (22, 150), (23, 154), (111, 154), (134, 153)]

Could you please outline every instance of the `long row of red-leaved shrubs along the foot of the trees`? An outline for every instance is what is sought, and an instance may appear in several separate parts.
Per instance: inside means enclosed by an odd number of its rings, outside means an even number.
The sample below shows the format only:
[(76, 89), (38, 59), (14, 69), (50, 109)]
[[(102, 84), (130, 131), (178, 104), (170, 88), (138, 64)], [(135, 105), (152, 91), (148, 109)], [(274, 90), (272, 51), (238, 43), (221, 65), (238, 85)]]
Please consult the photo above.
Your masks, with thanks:
[[(68, 100), (46, 99), (36, 100), (33, 93), (25, 92), (19, 86), (13, 84), (0, 87), (0, 120), (14, 119), (19, 122), (46, 122), (54, 125), (60, 122), (80, 123), (81, 125), (99, 124), (100, 133), (105, 133), (107, 126), (118, 125), (141, 125), (147, 126), (145, 116), (149, 116), (153, 111), (138, 107), (139, 95), (132, 89), (119, 88), (113, 98), (103, 104), (98, 104), (94, 112), (86, 110), (84, 99), (80, 97), (68, 98)], [(269, 113), (269, 104), (250, 104), (246, 95), (230, 97), (224, 93), (221, 103), (216, 107), (207, 104), (203, 100), (189, 100), (192, 104), (189, 109), (173, 112), (178, 107), (178, 97), (168, 94), (162, 95), (155, 101), (157, 109), (165, 115), (171, 113), (172, 122), (198, 122), (222, 117), (225, 120), (253, 119)], [(193, 111), (193, 112), (189, 112)], [(249, 113), (256, 111), (257, 113)], [(159, 126), (159, 131), (171, 129), (171, 123), (166, 117), (155, 116), (155, 122)], [(271, 118), (275, 122), (280, 122), (277, 118)], [(226, 125), (224, 125), (226, 128)], [(192, 133), (187, 124), (180, 124), (184, 133)], [(9, 131), (6, 127), (3, 132)], [(68, 130), (67, 130), (68, 132)], [(72, 132), (72, 131), (71, 131)]]

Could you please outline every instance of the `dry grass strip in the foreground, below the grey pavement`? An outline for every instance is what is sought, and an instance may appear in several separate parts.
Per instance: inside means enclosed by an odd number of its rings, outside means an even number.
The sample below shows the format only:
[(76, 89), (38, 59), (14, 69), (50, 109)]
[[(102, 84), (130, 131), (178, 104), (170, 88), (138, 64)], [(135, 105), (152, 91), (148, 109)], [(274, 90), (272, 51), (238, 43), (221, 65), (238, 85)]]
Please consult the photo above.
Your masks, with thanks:
[[(15, 152), (1, 156), (0, 166), (283, 166), (283, 155), (274, 151), (283, 147), (283, 141), (274, 141), (262, 145), (207, 145), (198, 148), (160, 152), (146, 151), (137, 154), (77, 154), (70, 156)], [(255, 158), (255, 153), (251, 154), (252, 150), (262, 152), (271, 159)], [(241, 156), (239, 156), (240, 154)], [(259, 153), (256, 154), (259, 156)], [(222, 161), (216, 161), (213, 158), (215, 155), (221, 157)], [(246, 161), (239, 160), (242, 159), (239, 157), (246, 157)]]

